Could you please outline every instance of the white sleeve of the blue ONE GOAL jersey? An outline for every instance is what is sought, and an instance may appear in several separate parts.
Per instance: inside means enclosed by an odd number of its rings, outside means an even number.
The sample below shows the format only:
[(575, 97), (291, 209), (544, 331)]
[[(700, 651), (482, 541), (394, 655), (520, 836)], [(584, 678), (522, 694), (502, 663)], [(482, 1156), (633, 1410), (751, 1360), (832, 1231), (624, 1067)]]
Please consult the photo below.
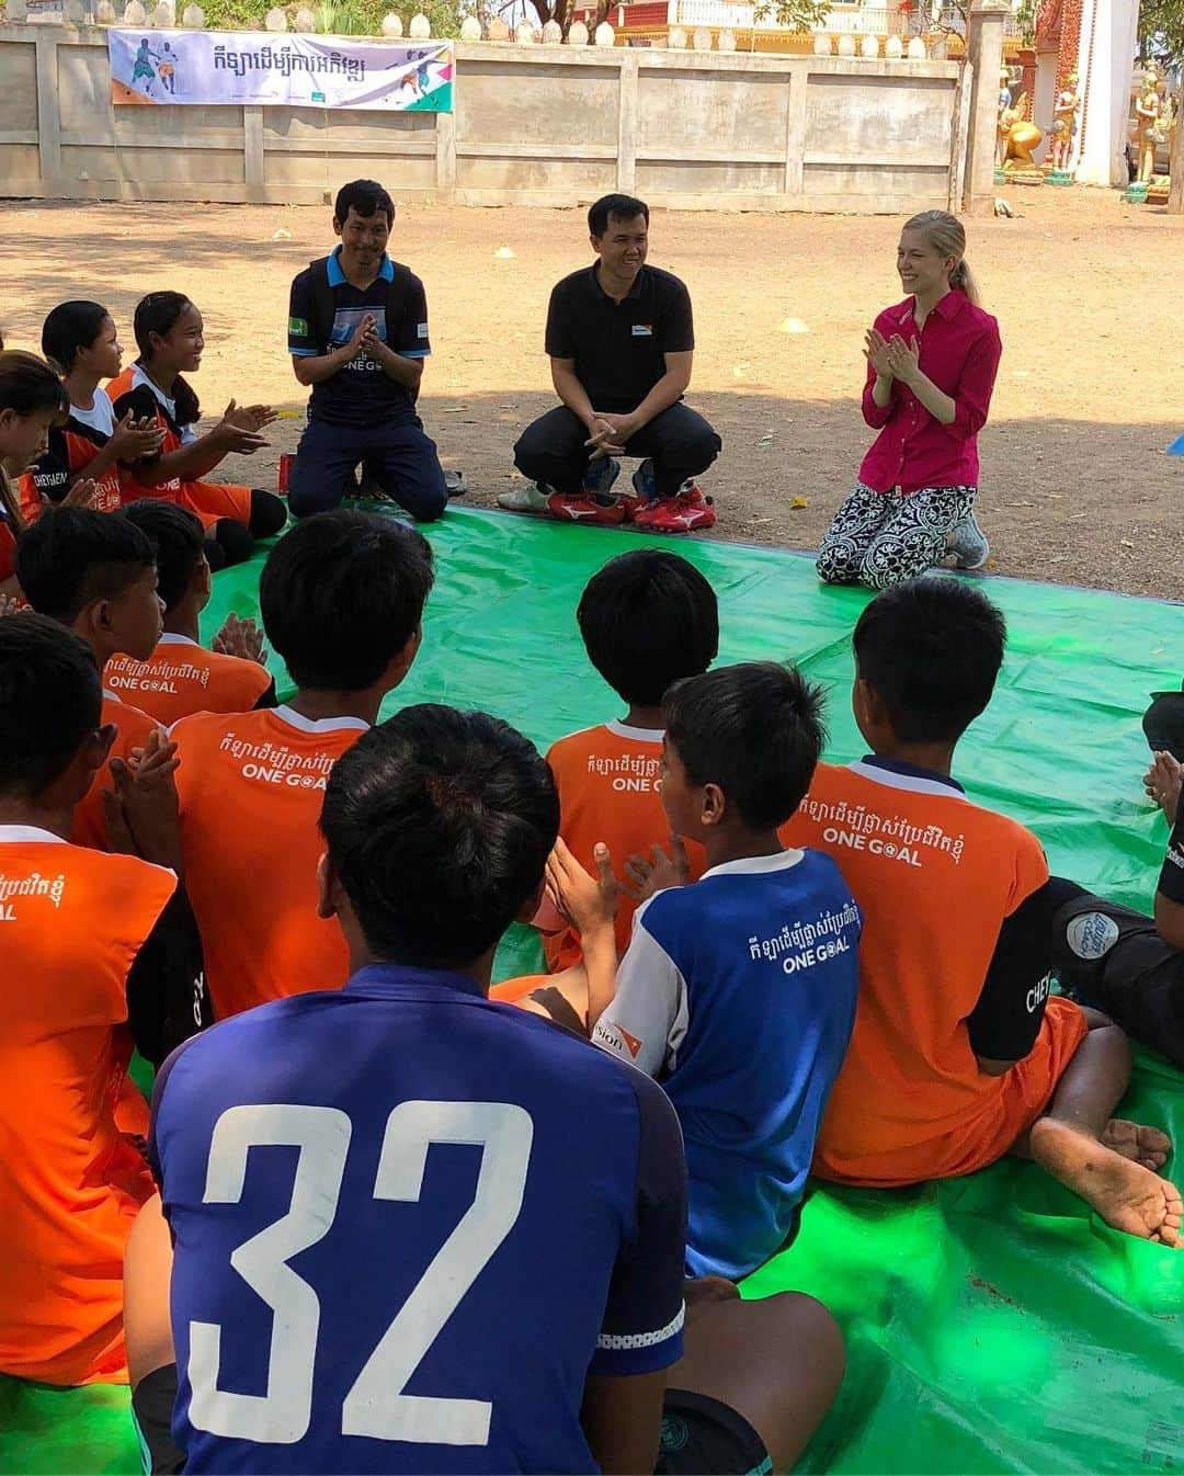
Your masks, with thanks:
[(645, 925), (651, 897), (633, 920), (633, 939), (617, 970), (613, 1004), (596, 1021), (592, 1041), (647, 1076), (675, 1069), (686, 1038), (686, 980)]

